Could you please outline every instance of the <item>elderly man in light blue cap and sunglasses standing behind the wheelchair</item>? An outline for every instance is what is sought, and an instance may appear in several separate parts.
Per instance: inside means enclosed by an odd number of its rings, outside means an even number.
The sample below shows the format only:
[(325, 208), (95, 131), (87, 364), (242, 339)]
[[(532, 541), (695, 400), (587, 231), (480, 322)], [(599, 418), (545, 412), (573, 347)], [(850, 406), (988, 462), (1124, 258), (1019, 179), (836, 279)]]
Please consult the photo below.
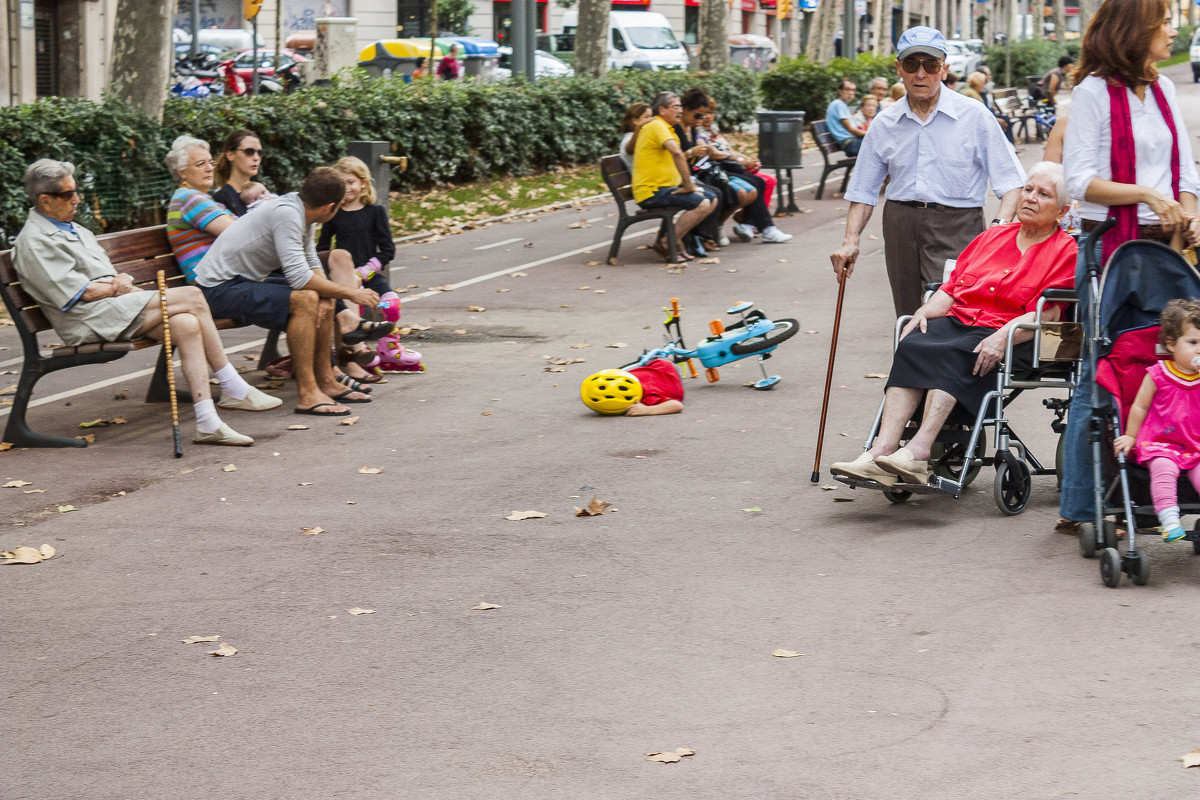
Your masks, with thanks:
[(919, 25), (900, 35), (896, 71), (906, 95), (880, 112), (863, 139), (846, 199), (846, 236), (833, 261), (838, 281), (854, 270), (858, 241), (884, 179), (883, 243), (896, 315), (920, 307), (926, 283), (940, 282), (983, 233), (988, 184), (1001, 198), (992, 224), (1008, 222), (1025, 170), (996, 118), (970, 97), (942, 89), (946, 38)]

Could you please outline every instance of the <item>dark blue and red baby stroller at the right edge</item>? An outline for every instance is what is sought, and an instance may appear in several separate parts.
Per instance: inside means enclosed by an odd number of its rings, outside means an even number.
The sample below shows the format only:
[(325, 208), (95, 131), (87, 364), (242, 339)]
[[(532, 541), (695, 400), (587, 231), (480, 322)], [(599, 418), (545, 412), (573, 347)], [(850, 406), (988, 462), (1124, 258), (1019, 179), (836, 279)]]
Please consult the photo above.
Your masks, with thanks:
[[(1126, 459), (1114, 456), (1112, 441), (1121, 435), (1126, 417), (1146, 368), (1163, 357), (1157, 353), (1158, 319), (1166, 303), (1176, 297), (1200, 297), (1200, 272), (1170, 247), (1154, 241), (1129, 241), (1112, 254), (1103, 278), (1096, 249), (1092, 246), (1109, 227), (1108, 223), (1088, 236), (1086, 247), (1088, 284), (1092, 297), (1094, 337), (1087, 357), (1093, 359), (1096, 384), (1110, 392), (1100, 402), (1092, 390), (1092, 414), (1088, 420), (1088, 440), (1092, 445), (1096, 486), (1096, 522), (1084, 523), (1079, 530), (1079, 548), (1084, 558), (1100, 553), (1100, 577), (1106, 587), (1116, 587), (1121, 573), (1138, 585), (1150, 579), (1150, 558), (1138, 549), (1138, 521), (1157, 525), (1150, 495), (1150, 473)], [(1184, 477), (1178, 485), (1180, 512), (1200, 513), (1200, 498)], [(1128, 548), (1122, 555), (1117, 545), (1116, 523), (1105, 516), (1123, 518), (1129, 531)], [(1153, 521), (1152, 523), (1150, 521)], [(1187, 535), (1200, 553), (1200, 525)]]

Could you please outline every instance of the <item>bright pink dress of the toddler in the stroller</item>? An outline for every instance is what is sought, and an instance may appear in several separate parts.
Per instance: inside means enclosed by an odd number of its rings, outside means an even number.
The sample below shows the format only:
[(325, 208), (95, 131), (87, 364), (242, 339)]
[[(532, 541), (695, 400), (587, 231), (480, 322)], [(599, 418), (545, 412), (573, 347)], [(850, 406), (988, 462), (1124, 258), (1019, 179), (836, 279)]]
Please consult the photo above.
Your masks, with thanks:
[(1200, 374), (1188, 375), (1170, 360), (1146, 367), (1154, 401), (1138, 432), (1138, 461), (1170, 458), (1181, 470), (1200, 464)]

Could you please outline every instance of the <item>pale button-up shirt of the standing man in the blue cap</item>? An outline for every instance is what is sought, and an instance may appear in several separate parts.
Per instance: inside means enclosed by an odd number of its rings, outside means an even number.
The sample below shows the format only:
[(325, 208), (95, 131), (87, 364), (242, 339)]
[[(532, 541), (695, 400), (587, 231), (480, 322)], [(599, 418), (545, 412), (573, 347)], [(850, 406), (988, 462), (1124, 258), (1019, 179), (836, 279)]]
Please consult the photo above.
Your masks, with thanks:
[(846, 199), (875, 205), (884, 198), (979, 207), (988, 182), (996, 197), (1025, 185), (1025, 170), (996, 118), (983, 103), (942, 86), (922, 121), (901, 97), (880, 112), (863, 139)]

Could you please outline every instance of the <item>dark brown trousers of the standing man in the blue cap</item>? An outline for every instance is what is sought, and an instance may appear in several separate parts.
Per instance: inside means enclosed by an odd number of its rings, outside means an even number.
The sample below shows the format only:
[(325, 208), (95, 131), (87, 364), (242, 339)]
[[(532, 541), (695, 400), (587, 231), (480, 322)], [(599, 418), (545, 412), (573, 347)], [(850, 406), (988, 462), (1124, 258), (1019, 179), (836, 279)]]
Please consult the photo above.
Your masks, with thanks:
[(947, 259), (983, 233), (983, 209), (914, 209), (883, 205), (883, 258), (896, 317), (920, 308), (925, 284), (941, 283)]

